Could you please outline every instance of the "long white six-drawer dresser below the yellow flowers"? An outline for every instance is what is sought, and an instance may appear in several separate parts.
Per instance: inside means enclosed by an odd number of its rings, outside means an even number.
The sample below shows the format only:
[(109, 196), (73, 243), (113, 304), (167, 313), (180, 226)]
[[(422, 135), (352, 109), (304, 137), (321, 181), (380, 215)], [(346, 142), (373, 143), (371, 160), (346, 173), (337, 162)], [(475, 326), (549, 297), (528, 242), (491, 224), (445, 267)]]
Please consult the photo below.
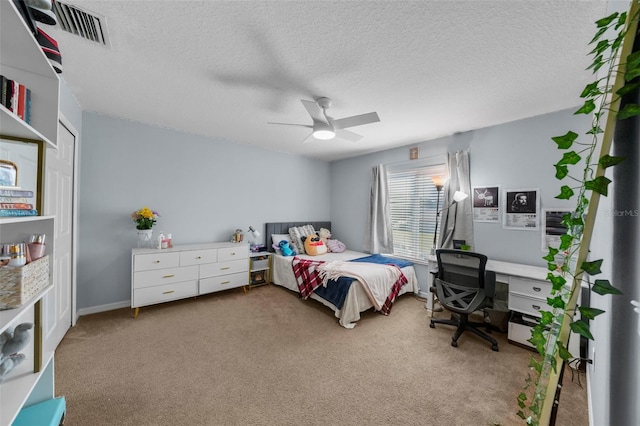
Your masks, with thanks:
[(195, 297), (249, 281), (249, 245), (231, 242), (131, 250), (131, 307)]

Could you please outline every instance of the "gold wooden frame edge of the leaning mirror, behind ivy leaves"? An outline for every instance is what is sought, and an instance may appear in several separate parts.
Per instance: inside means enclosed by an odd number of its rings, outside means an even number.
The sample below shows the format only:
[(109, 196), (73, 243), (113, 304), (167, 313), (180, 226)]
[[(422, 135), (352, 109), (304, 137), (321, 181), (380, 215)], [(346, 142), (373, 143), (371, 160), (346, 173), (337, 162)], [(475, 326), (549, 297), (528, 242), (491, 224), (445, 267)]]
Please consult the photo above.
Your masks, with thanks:
[[(622, 42), (620, 55), (618, 56), (618, 61), (619, 61), (619, 58), (626, 58), (627, 56), (629, 56), (629, 54), (633, 50), (633, 42), (634, 42), (637, 24), (638, 24), (637, 18), (638, 18), (639, 11), (640, 11), (640, 0), (633, 0), (630, 6), (629, 13), (627, 14), (627, 22), (625, 24), (626, 34), (624, 36), (624, 41)], [(614, 66), (610, 66), (609, 74), (613, 73), (614, 69), (615, 69)], [(616, 93), (624, 85), (625, 70), (626, 70), (626, 64), (620, 63), (619, 61), (618, 69), (615, 71), (616, 78), (613, 84), (612, 93)], [(609, 154), (609, 152), (611, 151), (611, 145), (613, 142), (613, 132), (615, 129), (615, 122), (616, 122), (616, 116), (617, 116), (617, 113), (615, 113), (615, 111), (618, 111), (619, 107), (620, 107), (620, 97), (613, 98), (611, 100), (611, 104), (609, 105), (609, 109), (613, 111), (613, 113), (607, 114), (606, 125), (604, 128), (604, 134), (602, 136), (602, 145), (600, 148), (599, 158), (603, 157), (606, 154)], [(597, 144), (597, 135), (593, 135), (593, 138), (594, 138), (593, 139), (594, 144)], [(586, 163), (588, 164), (590, 163), (590, 161), (587, 161)], [(589, 170), (591, 169), (589, 168)], [(587, 172), (585, 170), (585, 176), (586, 176), (586, 173)], [(596, 169), (596, 177), (604, 176), (604, 174), (605, 174), (604, 167), (598, 164), (598, 167)], [(580, 193), (580, 199), (578, 203), (582, 203), (582, 196), (583, 196), (583, 192)], [(587, 259), (589, 246), (591, 244), (591, 236), (593, 235), (593, 228), (595, 225), (596, 213), (598, 211), (599, 204), (600, 204), (600, 193), (598, 193), (597, 191), (592, 191), (591, 197), (588, 203), (589, 211), (587, 213), (587, 217), (584, 225), (584, 232), (582, 234), (582, 240), (580, 242), (580, 250), (578, 252), (578, 257), (575, 263), (576, 265), (575, 272), (572, 274), (573, 282), (571, 285), (569, 301), (565, 306), (565, 311), (572, 311), (576, 309), (578, 295), (579, 295), (578, 290), (581, 288), (581, 280), (582, 280), (582, 273), (583, 273), (583, 270), (581, 269), (581, 265)], [(558, 333), (557, 338), (551, 339), (554, 344), (557, 340), (559, 340), (562, 344), (566, 346), (567, 342), (569, 341), (569, 334), (571, 331), (570, 324), (571, 324), (571, 318), (568, 315), (565, 315), (563, 317), (562, 325), (560, 327), (560, 331)], [(546, 355), (545, 358), (547, 358), (548, 356), (549, 355)], [(560, 355), (557, 350), (555, 351), (553, 357), (555, 358), (556, 365), (562, 366), (562, 359), (560, 359)], [(549, 364), (548, 361), (546, 360), (544, 362), (545, 364)], [(548, 425), (549, 422), (551, 421), (551, 410), (553, 407), (555, 392), (558, 386), (559, 374), (560, 374), (558, 370), (553, 371), (553, 369), (550, 368), (550, 364), (547, 365), (545, 368), (543, 368), (543, 371), (545, 370), (549, 372), (549, 380), (547, 382), (546, 390), (544, 391), (541, 390), (540, 392), (541, 396), (544, 395), (544, 401), (543, 401), (543, 404), (540, 410), (540, 416), (539, 416), (540, 425)], [(538, 394), (538, 392), (536, 393)]]

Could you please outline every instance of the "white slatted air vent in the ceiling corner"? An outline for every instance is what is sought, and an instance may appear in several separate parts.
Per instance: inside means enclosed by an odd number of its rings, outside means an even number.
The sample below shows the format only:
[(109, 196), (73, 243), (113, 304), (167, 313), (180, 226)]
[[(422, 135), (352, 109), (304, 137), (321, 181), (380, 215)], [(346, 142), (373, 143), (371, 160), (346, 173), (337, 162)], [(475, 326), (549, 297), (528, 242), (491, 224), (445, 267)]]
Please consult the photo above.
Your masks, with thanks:
[(53, 11), (58, 18), (58, 25), (63, 30), (85, 40), (111, 47), (104, 16), (59, 1), (53, 2)]

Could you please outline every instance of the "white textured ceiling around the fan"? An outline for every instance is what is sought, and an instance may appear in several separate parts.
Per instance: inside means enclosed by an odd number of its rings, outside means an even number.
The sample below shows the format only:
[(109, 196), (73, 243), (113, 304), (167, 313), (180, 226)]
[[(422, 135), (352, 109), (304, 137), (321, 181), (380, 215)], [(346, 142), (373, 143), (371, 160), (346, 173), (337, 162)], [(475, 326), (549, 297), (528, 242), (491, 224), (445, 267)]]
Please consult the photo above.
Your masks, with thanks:
[[(64, 1), (64, 0), (63, 0)], [(334, 160), (578, 105), (607, 2), (83, 1), (111, 48), (49, 27), (84, 110)], [(302, 144), (300, 99), (376, 111)]]

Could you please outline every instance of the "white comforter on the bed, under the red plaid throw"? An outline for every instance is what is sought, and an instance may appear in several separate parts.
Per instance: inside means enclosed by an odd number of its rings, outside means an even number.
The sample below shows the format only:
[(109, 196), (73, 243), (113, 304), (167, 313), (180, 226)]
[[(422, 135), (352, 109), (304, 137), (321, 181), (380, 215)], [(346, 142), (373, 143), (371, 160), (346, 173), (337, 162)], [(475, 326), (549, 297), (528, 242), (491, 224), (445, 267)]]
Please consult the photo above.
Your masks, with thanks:
[[(347, 261), (351, 259), (357, 259), (359, 257), (369, 256), (367, 253), (361, 253), (356, 251), (347, 250), (342, 253), (327, 253), (321, 256), (308, 256), (308, 255), (298, 255), (298, 257), (302, 259), (309, 260), (320, 260), (324, 262), (334, 262), (334, 261)], [(293, 269), (291, 267), (291, 262), (293, 261), (293, 257), (285, 257), (281, 255), (274, 254), (273, 256), (273, 276), (272, 281), (274, 284), (285, 287), (291, 291), (295, 291), (298, 293), (298, 283), (296, 281), (295, 276), (293, 275)], [(356, 264), (355, 262), (353, 264)], [(368, 263), (367, 266), (372, 266), (375, 264)], [(388, 269), (388, 268), (387, 268)], [(405, 293), (418, 293), (418, 279), (416, 277), (415, 270), (413, 266), (407, 266), (402, 268), (402, 273), (407, 277), (407, 284), (405, 284), (400, 290), (399, 295)], [(353, 328), (356, 326), (356, 321), (360, 319), (360, 312), (364, 312), (367, 309), (375, 307), (369, 296), (367, 295), (367, 291), (363, 288), (362, 285), (359, 284), (359, 281), (355, 282), (349, 289), (349, 293), (344, 301), (344, 305), (342, 309), (336, 308), (330, 302), (327, 302), (323, 298), (312, 294), (310, 296), (312, 299), (319, 301), (331, 308), (336, 317), (340, 320), (340, 325), (345, 328)], [(387, 295), (384, 296), (386, 299)], [(384, 303), (383, 299), (383, 303)], [(376, 307), (376, 309), (379, 309)]]

